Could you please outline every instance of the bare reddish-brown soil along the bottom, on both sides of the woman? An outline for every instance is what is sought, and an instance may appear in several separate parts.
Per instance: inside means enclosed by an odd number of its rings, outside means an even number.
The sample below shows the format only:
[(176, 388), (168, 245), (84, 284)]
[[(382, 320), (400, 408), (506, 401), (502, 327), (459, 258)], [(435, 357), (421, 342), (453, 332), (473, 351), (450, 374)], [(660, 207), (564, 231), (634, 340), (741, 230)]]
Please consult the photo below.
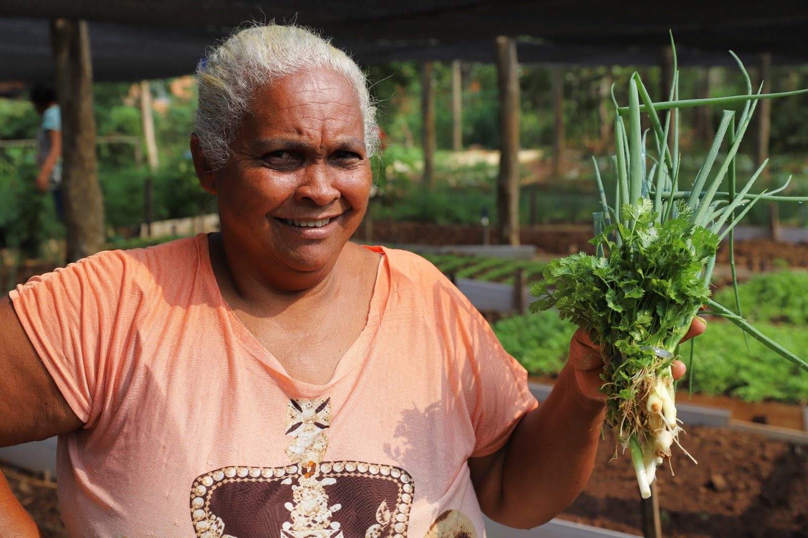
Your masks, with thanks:
[[(808, 538), (808, 447), (724, 429), (688, 428), (681, 441), (700, 464), (674, 454), (658, 472), (666, 538)], [(640, 496), (628, 454), (601, 441), (587, 488), (560, 517), (642, 536)], [(4, 468), (3, 470), (6, 470)], [(9, 480), (44, 536), (68, 536), (56, 490)]]

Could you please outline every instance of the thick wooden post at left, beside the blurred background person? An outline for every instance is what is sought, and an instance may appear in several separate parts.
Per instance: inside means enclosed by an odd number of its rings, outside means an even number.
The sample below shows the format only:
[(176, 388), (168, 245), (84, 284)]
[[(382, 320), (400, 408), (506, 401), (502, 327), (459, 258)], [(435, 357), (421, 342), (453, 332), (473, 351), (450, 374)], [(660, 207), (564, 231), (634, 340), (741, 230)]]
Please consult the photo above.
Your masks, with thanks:
[(62, 191), (69, 263), (95, 254), (101, 250), (104, 240), (87, 23), (54, 20), (51, 44), (61, 107)]

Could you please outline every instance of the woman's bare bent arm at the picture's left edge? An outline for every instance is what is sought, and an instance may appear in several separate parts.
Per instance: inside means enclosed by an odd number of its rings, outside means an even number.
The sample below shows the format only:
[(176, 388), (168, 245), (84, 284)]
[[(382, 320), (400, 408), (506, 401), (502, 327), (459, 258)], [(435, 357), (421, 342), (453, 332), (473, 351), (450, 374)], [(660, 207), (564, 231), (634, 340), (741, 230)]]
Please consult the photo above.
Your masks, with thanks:
[[(47, 439), (82, 425), (36, 355), (7, 296), (0, 301), (0, 372), (0, 446)], [(0, 528), (2, 536), (40, 536), (2, 473)]]

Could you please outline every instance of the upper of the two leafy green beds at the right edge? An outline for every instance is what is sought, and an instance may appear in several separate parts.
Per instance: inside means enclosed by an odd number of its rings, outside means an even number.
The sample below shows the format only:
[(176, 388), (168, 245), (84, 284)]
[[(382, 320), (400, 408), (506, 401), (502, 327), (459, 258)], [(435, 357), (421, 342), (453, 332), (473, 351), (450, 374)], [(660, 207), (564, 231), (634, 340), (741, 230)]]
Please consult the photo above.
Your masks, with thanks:
[[(739, 285), (738, 293), (743, 317), (749, 322), (808, 325), (808, 271), (755, 275)], [(735, 296), (731, 288), (716, 293), (715, 301), (737, 313), (733, 308)]]

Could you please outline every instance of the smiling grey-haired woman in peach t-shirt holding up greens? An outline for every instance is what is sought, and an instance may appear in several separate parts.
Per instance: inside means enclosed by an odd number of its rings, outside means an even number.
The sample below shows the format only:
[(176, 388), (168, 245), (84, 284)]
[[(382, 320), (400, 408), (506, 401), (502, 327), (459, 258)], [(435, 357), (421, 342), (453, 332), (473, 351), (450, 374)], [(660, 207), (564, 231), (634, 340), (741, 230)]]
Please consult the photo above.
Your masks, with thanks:
[[(96, 254), (0, 309), (0, 442), (61, 435), (71, 535), (471, 537), (562, 511), (604, 411), (586, 336), (537, 408), (435, 267), (348, 241), (377, 128), (344, 53), (251, 27), (198, 75), (221, 233)], [(4, 533), (37, 536), (2, 486)]]

